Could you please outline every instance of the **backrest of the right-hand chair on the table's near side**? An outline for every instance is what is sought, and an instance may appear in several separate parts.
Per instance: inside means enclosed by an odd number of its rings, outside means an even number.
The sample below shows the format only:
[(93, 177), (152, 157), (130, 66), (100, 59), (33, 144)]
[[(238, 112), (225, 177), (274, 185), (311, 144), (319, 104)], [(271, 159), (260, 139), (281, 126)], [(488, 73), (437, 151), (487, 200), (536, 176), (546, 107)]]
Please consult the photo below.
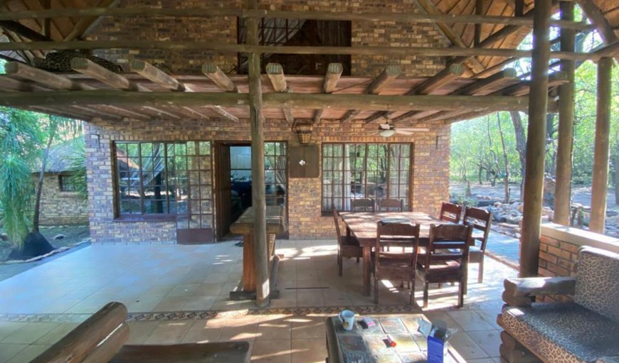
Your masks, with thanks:
[(456, 261), (466, 269), (472, 230), (471, 226), (464, 224), (430, 225), (425, 271), (430, 271), (431, 264), (443, 261)]

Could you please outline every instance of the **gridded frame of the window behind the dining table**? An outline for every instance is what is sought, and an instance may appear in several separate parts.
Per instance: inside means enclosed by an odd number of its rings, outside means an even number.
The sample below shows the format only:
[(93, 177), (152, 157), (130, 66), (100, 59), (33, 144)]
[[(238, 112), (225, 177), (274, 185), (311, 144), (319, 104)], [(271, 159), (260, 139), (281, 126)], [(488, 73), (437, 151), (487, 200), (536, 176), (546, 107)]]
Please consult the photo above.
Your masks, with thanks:
[[(349, 146), (364, 146), (364, 155), (362, 157), (363, 160), (363, 168), (361, 168), (360, 170), (353, 170), (351, 167), (351, 170), (344, 170), (344, 167), (340, 168), (340, 169), (335, 169), (334, 166), (332, 166), (331, 169), (329, 170), (325, 170), (324, 169), (324, 163), (325, 163), (325, 158), (331, 158), (333, 160), (337, 160), (338, 158), (341, 159), (342, 161), (344, 161), (344, 159), (346, 158), (346, 145)], [(345, 200), (346, 200), (346, 193), (345, 193), (345, 187), (346, 187), (346, 183), (344, 182), (345, 178), (342, 177), (342, 183), (339, 184), (332, 184), (332, 194), (334, 193), (334, 188), (338, 188), (341, 187), (342, 188), (342, 196), (341, 197), (335, 197), (335, 196), (331, 196), (331, 197), (324, 197), (324, 173), (325, 171), (327, 172), (337, 172), (337, 171), (342, 171), (342, 173), (346, 173), (346, 171), (348, 171), (349, 173), (351, 173), (351, 175), (354, 175), (354, 173), (358, 173), (361, 172), (363, 173), (363, 178), (362, 178), (362, 184), (361, 184), (361, 188), (364, 190), (364, 195), (368, 195), (368, 158), (369, 158), (369, 146), (371, 145), (376, 145), (376, 146), (381, 146), (381, 145), (386, 145), (389, 148), (391, 148), (391, 146), (393, 145), (398, 145), (398, 146), (408, 146), (408, 180), (406, 180), (406, 185), (408, 185), (408, 193), (405, 197), (398, 197), (398, 199), (406, 199), (406, 202), (404, 203), (406, 205), (406, 207), (408, 208), (408, 210), (411, 210), (411, 197), (412, 197), (412, 182), (413, 182), (413, 151), (414, 151), (414, 143), (413, 142), (386, 142), (386, 143), (377, 143), (377, 142), (327, 142), (327, 143), (322, 143), (321, 146), (321, 153), (320, 153), (320, 162), (321, 162), (321, 175), (320, 175), (320, 209), (322, 212), (322, 215), (330, 215), (331, 213), (331, 206), (332, 204), (334, 204), (334, 200), (336, 198), (341, 198), (342, 199), (342, 207), (344, 207)], [(324, 153), (324, 148), (325, 146), (341, 146), (342, 147), (342, 156), (339, 157), (333, 157), (333, 156), (325, 156)], [(361, 157), (359, 157), (361, 158)], [(391, 153), (387, 153), (386, 154), (386, 158), (387, 158), (387, 166), (386, 166), (386, 191), (385, 191), (385, 195), (386, 198), (391, 199), (391, 188), (392, 187), (397, 187), (399, 185), (405, 185), (405, 183), (397, 183), (396, 185), (391, 185), (391, 165), (392, 165), (392, 158), (391, 158)], [(403, 156), (398, 156), (398, 160), (401, 160), (401, 158), (403, 158)], [(373, 173), (375, 173), (376, 171), (372, 171)], [(351, 176), (351, 185), (353, 182), (353, 178)], [(356, 182), (355, 182), (356, 183)], [(330, 205), (325, 206), (324, 205), (324, 200), (331, 200)], [(351, 198), (351, 199), (356, 199), (356, 198)], [(376, 199), (376, 198), (375, 198)], [(338, 212), (344, 212), (346, 210), (344, 210), (343, 208), (337, 208)]]

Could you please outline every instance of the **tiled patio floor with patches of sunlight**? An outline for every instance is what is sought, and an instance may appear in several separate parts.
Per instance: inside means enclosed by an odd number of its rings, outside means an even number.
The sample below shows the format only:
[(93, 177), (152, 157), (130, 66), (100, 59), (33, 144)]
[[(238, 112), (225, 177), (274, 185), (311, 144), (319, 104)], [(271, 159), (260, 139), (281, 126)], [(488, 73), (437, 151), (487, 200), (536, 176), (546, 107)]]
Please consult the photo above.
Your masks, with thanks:
[[(241, 273), (242, 249), (233, 242), (94, 245), (1, 281), (0, 362), (28, 362), (110, 300), (127, 305), (131, 342), (248, 340), (255, 362), (324, 362), (322, 324), (332, 315), (325, 306), (375, 314), (408, 309), (408, 291), (389, 281), (380, 288), (379, 307), (363, 296), (361, 264), (353, 259), (344, 261), (344, 276), (337, 276), (334, 241), (278, 243), (277, 253), (285, 254), (278, 273), (281, 298), (268, 310), (248, 312), (253, 303), (228, 301)], [(477, 266), (471, 266), (475, 278), (465, 308), (453, 309), (457, 286), (447, 286), (430, 291), (432, 311), (425, 312), (460, 331), (453, 345), (470, 362), (498, 357), (494, 320), (502, 281), (516, 275), (493, 259), (485, 269), (479, 284)], [(420, 283), (417, 290), (419, 299)]]

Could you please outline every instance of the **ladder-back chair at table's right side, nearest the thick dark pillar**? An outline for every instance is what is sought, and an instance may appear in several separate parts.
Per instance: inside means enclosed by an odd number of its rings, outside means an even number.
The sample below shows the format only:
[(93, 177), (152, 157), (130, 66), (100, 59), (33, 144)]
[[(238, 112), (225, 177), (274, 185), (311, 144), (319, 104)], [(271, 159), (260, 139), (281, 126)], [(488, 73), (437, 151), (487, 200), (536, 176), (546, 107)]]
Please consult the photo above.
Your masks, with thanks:
[(480, 264), (477, 282), (482, 283), (484, 281), (484, 256), (488, 235), (490, 234), (490, 225), (492, 224), (492, 212), (480, 208), (466, 207), (462, 224), (473, 228), (472, 238), (475, 240), (475, 246), (470, 246), (469, 263)]

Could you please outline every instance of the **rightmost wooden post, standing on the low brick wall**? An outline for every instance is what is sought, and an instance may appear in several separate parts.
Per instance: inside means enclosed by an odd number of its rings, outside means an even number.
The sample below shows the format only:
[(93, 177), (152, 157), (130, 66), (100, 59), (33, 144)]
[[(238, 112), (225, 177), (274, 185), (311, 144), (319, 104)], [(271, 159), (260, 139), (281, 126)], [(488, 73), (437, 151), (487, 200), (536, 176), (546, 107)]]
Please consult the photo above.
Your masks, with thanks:
[(610, 74), (613, 58), (598, 62), (598, 108), (596, 113), (596, 146), (593, 153), (593, 186), (591, 188), (591, 222), (589, 229), (604, 233), (606, 193), (608, 188), (608, 134), (610, 134)]

